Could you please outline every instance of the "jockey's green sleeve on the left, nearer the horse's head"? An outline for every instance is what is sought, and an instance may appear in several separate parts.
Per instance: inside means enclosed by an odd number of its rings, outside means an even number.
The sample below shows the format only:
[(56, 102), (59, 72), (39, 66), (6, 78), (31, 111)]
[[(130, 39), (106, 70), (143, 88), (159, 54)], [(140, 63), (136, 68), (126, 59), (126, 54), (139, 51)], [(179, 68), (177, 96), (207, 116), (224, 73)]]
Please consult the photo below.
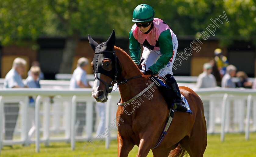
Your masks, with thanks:
[(129, 42), (130, 42), (129, 52), (130, 52), (130, 56), (131, 56), (131, 58), (132, 58), (134, 63), (140, 63), (140, 52), (141, 52), (140, 43), (134, 38), (132, 30), (129, 33), (129, 35), (130, 35), (130, 37), (129, 37)]

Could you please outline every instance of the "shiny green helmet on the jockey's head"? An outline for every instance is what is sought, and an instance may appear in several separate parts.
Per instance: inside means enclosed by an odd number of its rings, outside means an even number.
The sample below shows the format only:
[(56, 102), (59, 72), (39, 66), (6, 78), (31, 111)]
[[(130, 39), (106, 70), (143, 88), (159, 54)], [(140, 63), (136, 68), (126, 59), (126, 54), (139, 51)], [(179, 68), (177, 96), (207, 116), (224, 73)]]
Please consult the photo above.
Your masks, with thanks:
[(132, 22), (152, 21), (155, 16), (154, 9), (147, 4), (140, 4), (133, 10)]

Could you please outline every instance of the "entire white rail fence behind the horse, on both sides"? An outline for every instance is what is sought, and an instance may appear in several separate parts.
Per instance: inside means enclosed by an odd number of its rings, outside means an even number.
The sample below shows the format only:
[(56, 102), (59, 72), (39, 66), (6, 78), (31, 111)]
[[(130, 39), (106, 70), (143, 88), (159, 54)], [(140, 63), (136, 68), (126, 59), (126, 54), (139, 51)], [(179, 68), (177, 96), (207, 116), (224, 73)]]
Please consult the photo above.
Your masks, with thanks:
[[(207, 132), (221, 133), (221, 141), (225, 133), (245, 132), (249, 139), (249, 132), (256, 131), (256, 90), (251, 89), (199, 89), (195, 90), (204, 102), (204, 114), (207, 122)], [(1, 89), (0, 90), (0, 148), (3, 145), (36, 143), (36, 151), (40, 151), (39, 144), (48, 145), (49, 142), (71, 142), (71, 149), (75, 149), (75, 141), (89, 141), (96, 139), (94, 102), (91, 89)], [(27, 118), (28, 96), (36, 97), (36, 138), (28, 139)], [(110, 139), (116, 139), (117, 131), (109, 131), (108, 125), (116, 118), (116, 109), (120, 99), (119, 91), (109, 94), (106, 108), (106, 129), (109, 135), (102, 135), (106, 140), (106, 148)], [(81, 136), (76, 135), (76, 105), (85, 104), (85, 127)], [(5, 139), (5, 104), (18, 104), (18, 120), (13, 138)], [(107, 133), (107, 132), (106, 132)], [(83, 149), (83, 148), (77, 148)]]

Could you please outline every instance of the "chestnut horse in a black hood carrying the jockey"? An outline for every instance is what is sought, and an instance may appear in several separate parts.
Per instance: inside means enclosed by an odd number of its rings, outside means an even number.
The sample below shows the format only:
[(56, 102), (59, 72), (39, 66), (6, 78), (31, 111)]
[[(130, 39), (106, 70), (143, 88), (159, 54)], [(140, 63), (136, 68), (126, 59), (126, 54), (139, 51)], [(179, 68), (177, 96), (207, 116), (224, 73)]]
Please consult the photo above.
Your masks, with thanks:
[[(113, 30), (107, 42), (100, 45), (88, 35), (89, 42), (95, 51), (91, 63), (94, 69), (94, 87), (92, 96), (98, 102), (106, 102), (112, 85), (118, 83), (121, 102), (127, 102), (143, 91), (150, 84), (129, 55), (121, 48), (114, 46)], [(136, 77), (138, 76), (138, 77)], [(127, 157), (134, 145), (139, 147), (137, 157), (146, 157), (150, 149), (158, 142), (165, 126), (169, 109), (165, 99), (158, 90), (151, 93), (150, 98), (140, 97), (141, 103), (118, 106), (116, 116), (118, 157)], [(199, 96), (187, 87), (180, 87), (180, 92), (189, 103), (188, 112), (175, 111), (169, 131), (162, 143), (152, 149), (154, 157), (183, 156), (187, 152), (190, 157), (201, 157), (207, 145), (206, 122), (203, 103)], [(139, 97), (138, 97), (139, 98)]]

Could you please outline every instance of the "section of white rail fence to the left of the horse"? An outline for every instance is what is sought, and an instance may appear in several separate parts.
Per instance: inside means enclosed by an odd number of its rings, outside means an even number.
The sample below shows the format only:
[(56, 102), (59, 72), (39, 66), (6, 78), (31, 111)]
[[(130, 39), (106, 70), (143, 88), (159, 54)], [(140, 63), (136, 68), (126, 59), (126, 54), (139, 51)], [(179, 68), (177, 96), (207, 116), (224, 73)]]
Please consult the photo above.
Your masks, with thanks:
[[(110, 124), (110, 121), (114, 120), (116, 117), (116, 102), (120, 99), (119, 91), (113, 91), (112, 97), (109, 97), (108, 108), (109, 112), (106, 113), (106, 119), (108, 121), (105, 123)], [(93, 130), (93, 103), (95, 102), (94, 98), (91, 97), (91, 89), (76, 89), (76, 90), (65, 90), (65, 89), (2, 89), (0, 90), (0, 148), (3, 145), (14, 145), (14, 144), (23, 144), (28, 145), (29, 141), (27, 139), (27, 108), (28, 108), (28, 95), (38, 95), (36, 98), (36, 151), (39, 152), (39, 143), (45, 143), (48, 145), (49, 142), (72, 142), (71, 148), (74, 149), (74, 143), (76, 140), (87, 141), (90, 139), (95, 139), (95, 133)], [(51, 104), (51, 98), (53, 98), (53, 103)], [(20, 112), (19, 120), (21, 120), (20, 126), (17, 126), (15, 132), (20, 133), (20, 136), (15, 136), (13, 140), (4, 140), (3, 134), (3, 106), (7, 102), (20, 103)], [(65, 102), (65, 103), (64, 103)], [(75, 136), (75, 121), (76, 119), (76, 102), (86, 102), (86, 129), (82, 136)], [(62, 104), (60, 108), (56, 109), (59, 103)], [(72, 110), (71, 110), (72, 108)], [(61, 110), (61, 111), (60, 111)], [(72, 112), (71, 112), (72, 111)], [(61, 117), (61, 118), (60, 118)], [(58, 119), (58, 120), (57, 120)], [(42, 126), (40, 123), (42, 121)], [(57, 121), (57, 122), (56, 122)], [(60, 121), (62, 124), (60, 124)], [(57, 125), (57, 126), (56, 126)], [(59, 125), (59, 126), (58, 126)], [(71, 127), (72, 126), (72, 127)], [(42, 132), (42, 137), (40, 133)], [(57, 133), (56, 133), (57, 132)], [(59, 133), (58, 133), (59, 132)], [(55, 133), (54, 136), (51, 136), (51, 133)], [(15, 134), (15, 133), (14, 133)], [(59, 137), (56, 137), (59, 136)], [(103, 136), (104, 137), (104, 136)], [(104, 137), (106, 141), (110, 139), (116, 139), (116, 132), (111, 132), (110, 136)], [(34, 142), (32, 140), (32, 142)], [(106, 142), (108, 144), (108, 142)], [(108, 148), (108, 145), (106, 145)], [(83, 148), (81, 148), (83, 149)]]

